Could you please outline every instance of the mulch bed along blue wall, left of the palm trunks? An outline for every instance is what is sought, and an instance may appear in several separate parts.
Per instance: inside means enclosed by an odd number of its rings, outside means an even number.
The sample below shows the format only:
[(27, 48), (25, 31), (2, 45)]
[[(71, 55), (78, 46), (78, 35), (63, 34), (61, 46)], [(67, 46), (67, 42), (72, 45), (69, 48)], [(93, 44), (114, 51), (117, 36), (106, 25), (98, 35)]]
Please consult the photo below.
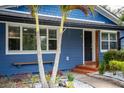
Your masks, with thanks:
[(12, 76), (0, 75), (0, 88), (33, 88), (35, 83), (39, 83), (37, 74), (16, 74)]

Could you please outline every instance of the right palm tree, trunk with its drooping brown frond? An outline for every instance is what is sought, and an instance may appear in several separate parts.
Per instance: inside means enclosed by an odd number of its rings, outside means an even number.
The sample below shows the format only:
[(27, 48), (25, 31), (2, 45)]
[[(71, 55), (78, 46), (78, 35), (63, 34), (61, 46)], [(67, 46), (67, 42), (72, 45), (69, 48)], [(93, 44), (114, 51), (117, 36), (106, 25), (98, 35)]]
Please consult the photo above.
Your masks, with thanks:
[(61, 5), (60, 6), (61, 12), (62, 12), (62, 18), (61, 18), (61, 24), (59, 28), (59, 38), (58, 38), (58, 46), (57, 46), (57, 53), (55, 57), (55, 63), (52, 71), (52, 76), (51, 76), (51, 87), (54, 87), (55, 84), (55, 79), (58, 71), (58, 65), (60, 61), (60, 55), (61, 55), (61, 42), (62, 42), (62, 35), (63, 35), (63, 26), (64, 22), (66, 20), (66, 17), (68, 13), (72, 10), (79, 9), (82, 12), (84, 12), (85, 15), (88, 15), (89, 11), (92, 13), (94, 12), (94, 6), (91, 5)]

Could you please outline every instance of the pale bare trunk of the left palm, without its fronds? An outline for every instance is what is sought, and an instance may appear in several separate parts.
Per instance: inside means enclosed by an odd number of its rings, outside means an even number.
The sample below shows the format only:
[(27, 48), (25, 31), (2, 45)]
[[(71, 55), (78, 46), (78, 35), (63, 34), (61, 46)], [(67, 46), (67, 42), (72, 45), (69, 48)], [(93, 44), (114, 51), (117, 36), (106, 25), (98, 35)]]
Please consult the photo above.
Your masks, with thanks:
[(40, 30), (39, 30), (39, 20), (38, 14), (35, 13), (35, 21), (36, 21), (36, 41), (37, 41), (37, 59), (38, 59), (38, 68), (40, 74), (40, 80), (43, 88), (48, 88), (48, 84), (45, 78), (43, 59), (42, 59), (42, 51), (41, 51), (41, 40), (40, 40)]

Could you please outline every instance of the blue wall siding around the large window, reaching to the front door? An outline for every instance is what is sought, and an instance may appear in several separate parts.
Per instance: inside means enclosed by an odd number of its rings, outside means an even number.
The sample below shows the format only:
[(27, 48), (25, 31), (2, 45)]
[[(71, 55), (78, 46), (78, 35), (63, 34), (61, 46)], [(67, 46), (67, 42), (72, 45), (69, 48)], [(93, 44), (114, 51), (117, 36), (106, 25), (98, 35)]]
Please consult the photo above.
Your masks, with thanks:
[[(76, 65), (82, 63), (83, 51), (82, 51), (82, 30), (67, 29), (64, 32), (62, 39), (62, 54), (60, 59), (59, 69), (68, 70)], [(66, 60), (66, 57), (69, 60)], [(44, 61), (54, 61), (55, 54), (43, 54)], [(38, 72), (37, 65), (29, 65), (22, 67), (14, 67), (14, 62), (34, 62), (37, 60), (36, 54), (16, 54), (6, 55), (5, 54), (5, 24), (0, 23), (0, 74), (17, 74), (17, 73), (31, 73)], [(52, 64), (45, 64), (45, 71), (52, 70)]]

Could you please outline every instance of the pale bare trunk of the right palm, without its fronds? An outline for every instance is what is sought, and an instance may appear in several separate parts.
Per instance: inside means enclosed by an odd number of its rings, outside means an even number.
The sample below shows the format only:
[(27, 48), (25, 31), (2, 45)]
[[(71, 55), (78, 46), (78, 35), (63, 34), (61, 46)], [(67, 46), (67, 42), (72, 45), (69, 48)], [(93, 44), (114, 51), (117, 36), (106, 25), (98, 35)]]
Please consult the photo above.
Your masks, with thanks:
[(54, 67), (53, 67), (53, 71), (52, 71), (52, 77), (51, 77), (51, 82), (50, 82), (51, 83), (50, 84), (51, 87), (54, 87), (55, 80), (56, 80), (56, 75), (57, 75), (57, 71), (58, 71), (60, 55), (61, 55), (61, 43), (62, 43), (63, 25), (64, 25), (65, 17), (66, 17), (65, 13), (63, 13), (62, 19), (61, 19), (61, 25), (60, 25), (60, 29), (59, 29), (57, 53), (56, 53), (56, 56), (55, 56), (55, 63), (54, 63)]

